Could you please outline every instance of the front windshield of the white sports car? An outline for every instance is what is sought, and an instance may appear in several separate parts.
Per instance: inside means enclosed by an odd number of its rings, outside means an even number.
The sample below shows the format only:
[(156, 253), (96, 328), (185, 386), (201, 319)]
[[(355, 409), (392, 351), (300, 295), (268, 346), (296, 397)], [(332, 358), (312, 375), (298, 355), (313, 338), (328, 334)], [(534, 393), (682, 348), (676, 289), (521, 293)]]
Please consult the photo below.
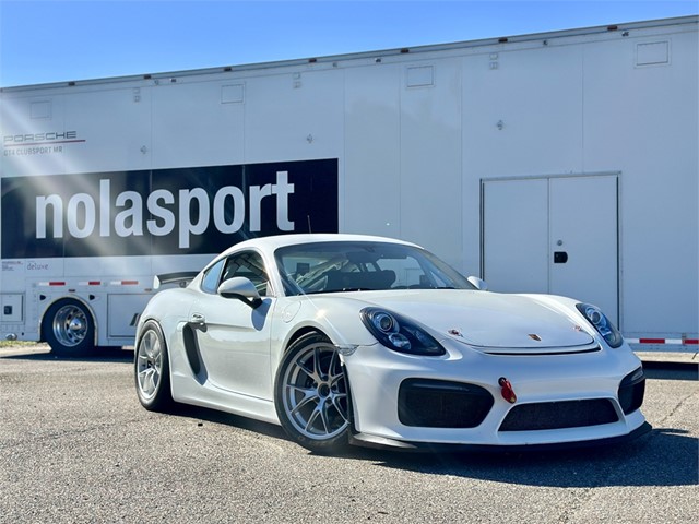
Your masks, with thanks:
[(303, 243), (280, 248), (275, 255), (287, 296), (384, 289), (475, 289), (434, 254), (401, 243)]

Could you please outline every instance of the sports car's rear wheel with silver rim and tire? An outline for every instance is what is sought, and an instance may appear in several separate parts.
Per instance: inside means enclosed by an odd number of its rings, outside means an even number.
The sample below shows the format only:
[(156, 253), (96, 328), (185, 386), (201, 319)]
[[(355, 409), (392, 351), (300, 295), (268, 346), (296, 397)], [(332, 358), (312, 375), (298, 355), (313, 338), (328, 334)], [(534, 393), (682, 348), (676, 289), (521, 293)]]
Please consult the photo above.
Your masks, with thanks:
[(165, 337), (153, 321), (145, 323), (139, 337), (133, 358), (133, 378), (143, 407), (151, 412), (164, 412), (173, 405)]

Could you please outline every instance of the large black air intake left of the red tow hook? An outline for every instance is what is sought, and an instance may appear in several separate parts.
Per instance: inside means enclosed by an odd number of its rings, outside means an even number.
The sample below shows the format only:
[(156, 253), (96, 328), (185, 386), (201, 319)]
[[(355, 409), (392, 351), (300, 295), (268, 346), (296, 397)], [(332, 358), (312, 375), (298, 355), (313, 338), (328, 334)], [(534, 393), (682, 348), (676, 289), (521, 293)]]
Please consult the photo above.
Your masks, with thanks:
[(495, 400), (484, 388), (445, 380), (407, 379), (398, 394), (398, 417), (405, 426), (475, 428)]

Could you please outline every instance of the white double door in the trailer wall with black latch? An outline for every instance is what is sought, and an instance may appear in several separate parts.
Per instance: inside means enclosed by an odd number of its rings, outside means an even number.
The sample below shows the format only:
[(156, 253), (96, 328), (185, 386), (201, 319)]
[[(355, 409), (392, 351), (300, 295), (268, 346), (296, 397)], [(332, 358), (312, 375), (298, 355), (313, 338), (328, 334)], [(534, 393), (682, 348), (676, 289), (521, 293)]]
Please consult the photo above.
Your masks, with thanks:
[(485, 181), (482, 206), (491, 290), (577, 298), (618, 324), (615, 176)]

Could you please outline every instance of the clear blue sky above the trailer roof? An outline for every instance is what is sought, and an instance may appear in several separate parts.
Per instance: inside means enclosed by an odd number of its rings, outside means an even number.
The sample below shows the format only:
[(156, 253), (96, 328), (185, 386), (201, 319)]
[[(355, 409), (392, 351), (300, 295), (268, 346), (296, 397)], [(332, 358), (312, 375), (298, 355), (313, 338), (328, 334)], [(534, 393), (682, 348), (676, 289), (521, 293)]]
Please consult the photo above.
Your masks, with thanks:
[(699, 14), (699, 0), (0, 0), (0, 87)]

